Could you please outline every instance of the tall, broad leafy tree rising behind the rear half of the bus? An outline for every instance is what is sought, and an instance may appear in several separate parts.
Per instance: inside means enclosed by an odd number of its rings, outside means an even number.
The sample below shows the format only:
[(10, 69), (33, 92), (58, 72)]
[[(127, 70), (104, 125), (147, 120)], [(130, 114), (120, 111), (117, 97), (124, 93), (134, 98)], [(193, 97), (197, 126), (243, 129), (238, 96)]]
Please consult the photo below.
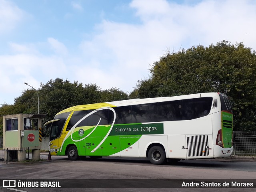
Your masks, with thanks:
[(168, 51), (150, 73), (134, 90), (140, 98), (225, 93), (233, 104), (234, 130), (256, 130), (256, 52), (242, 43)]

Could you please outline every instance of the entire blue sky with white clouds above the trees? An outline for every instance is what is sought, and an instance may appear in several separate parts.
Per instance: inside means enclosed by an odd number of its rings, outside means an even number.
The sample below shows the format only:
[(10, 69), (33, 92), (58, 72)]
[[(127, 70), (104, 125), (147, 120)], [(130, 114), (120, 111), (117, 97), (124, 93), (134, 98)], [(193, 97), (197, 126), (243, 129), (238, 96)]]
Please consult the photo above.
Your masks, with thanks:
[(0, 0), (0, 105), (56, 78), (130, 93), (168, 50), (255, 33), (256, 0)]

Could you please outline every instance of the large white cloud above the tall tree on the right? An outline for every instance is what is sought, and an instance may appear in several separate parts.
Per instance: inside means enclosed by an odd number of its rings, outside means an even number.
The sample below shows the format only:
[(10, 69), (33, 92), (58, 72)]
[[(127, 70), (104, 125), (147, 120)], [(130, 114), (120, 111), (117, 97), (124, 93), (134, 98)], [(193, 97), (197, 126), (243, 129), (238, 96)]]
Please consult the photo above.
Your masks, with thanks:
[[(157, 41), (177, 51), (180, 46), (208, 46), (222, 40), (244, 42), (256, 48), (256, 4), (251, 0), (204, 0), (195, 5), (134, 0), (136, 15), (147, 31), (156, 32)], [(156, 9), (154, 10), (154, 7)], [(151, 39), (150, 39), (151, 41)]]

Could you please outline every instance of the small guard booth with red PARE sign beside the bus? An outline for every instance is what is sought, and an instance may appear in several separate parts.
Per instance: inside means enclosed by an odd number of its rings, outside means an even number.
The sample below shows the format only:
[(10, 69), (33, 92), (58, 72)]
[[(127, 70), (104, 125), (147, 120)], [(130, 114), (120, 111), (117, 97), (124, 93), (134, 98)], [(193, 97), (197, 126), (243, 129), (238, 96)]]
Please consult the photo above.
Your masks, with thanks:
[(40, 114), (4, 115), (3, 148), (5, 160), (26, 160), (26, 151), (32, 150), (32, 159), (40, 158), (42, 117)]

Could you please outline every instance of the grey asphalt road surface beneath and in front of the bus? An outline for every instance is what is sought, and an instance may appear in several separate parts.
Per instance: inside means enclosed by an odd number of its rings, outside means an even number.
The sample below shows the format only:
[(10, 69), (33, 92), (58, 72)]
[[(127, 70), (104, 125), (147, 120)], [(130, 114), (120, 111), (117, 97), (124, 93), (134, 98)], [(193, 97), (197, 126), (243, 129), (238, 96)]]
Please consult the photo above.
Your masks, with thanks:
[[(41, 158), (47, 159), (48, 154), (42, 153)], [(256, 160), (252, 159), (201, 159), (184, 160), (177, 164), (153, 165), (147, 158), (112, 158), (99, 159), (86, 158), (84, 160), (70, 161), (66, 156), (52, 156), (52, 161), (27, 162), (27, 163), (0, 163), (0, 179), (10, 180), (33, 180), (33, 179), (69, 179), (65, 182), (72, 183), (73, 188), (18, 188), (18, 190), (36, 191), (92, 191), (92, 192), (119, 192), (119, 191), (225, 191), (225, 192), (246, 192), (256, 191), (254, 188), (164, 188), (164, 181), (175, 180), (177, 182), (190, 182), (190, 180), (201, 181), (235, 181), (243, 179), (243, 182), (256, 179)], [(73, 180), (74, 179), (74, 180)], [(76, 188), (76, 180), (105, 182), (108, 188)], [(108, 180), (106, 180), (108, 179)], [(132, 180), (131, 180), (132, 179)], [(144, 179), (144, 180), (141, 180)], [(148, 183), (150, 179), (150, 184)], [(140, 182), (150, 188), (111, 188), (122, 181)], [(83, 181), (83, 180), (82, 180)], [(106, 181), (109, 181), (106, 184)], [(144, 182), (146, 181), (146, 182)], [(256, 180), (255, 180), (256, 181)], [(136, 182), (131, 183), (136, 186)], [(63, 182), (62, 182), (63, 184)], [(93, 182), (94, 187), (100, 186)], [(123, 183), (126, 184), (127, 183)], [(166, 183), (165, 183), (166, 184)], [(175, 184), (175, 183), (174, 183)], [(256, 182), (254, 182), (254, 185)], [(1, 183), (0, 183), (1, 186)], [(0, 191), (12, 191), (0, 188)], [(13, 192), (13, 191), (12, 191)]]

